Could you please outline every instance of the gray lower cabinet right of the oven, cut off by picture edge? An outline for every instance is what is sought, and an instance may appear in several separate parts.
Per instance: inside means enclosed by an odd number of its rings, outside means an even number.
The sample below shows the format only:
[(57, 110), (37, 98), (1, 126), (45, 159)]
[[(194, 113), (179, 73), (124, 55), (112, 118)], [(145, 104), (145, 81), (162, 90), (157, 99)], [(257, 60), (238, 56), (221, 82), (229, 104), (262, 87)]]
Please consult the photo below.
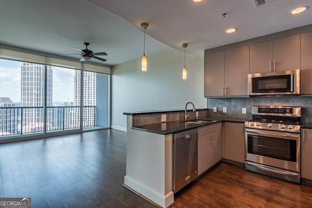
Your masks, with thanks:
[(301, 130), (301, 177), (312, 180), (312, 129)]

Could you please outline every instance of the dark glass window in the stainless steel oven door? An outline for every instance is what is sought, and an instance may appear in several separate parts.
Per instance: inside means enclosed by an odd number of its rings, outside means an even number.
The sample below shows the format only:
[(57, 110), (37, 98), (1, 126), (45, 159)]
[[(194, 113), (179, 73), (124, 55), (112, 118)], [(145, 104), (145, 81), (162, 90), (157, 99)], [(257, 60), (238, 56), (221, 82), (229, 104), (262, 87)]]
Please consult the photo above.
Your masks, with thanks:
[(296, 140), (248, 135), (248, 153), (296, 162)]

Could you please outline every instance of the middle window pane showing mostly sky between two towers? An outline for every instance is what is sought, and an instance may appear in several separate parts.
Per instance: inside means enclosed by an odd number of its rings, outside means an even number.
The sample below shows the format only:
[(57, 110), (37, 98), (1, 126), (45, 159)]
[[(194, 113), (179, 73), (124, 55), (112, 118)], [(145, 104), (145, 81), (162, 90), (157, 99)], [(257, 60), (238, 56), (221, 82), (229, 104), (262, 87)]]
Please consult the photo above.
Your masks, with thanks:
[[(77, 94), (80, 93), (80, 85), (77, 85), (76, 74), (80, 70), (51, 67), (51, 71), (52, 87), (47, 88), (47, 132), (79, 129), (80, 97)], [(47, 83), (49, 82), (48, 76)]]

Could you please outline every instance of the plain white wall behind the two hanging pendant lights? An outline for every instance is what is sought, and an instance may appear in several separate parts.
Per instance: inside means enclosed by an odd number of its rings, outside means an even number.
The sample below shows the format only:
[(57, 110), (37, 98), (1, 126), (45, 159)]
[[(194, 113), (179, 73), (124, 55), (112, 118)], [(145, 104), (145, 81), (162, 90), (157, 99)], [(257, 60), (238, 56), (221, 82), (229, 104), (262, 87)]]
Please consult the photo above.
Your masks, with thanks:
[(145, 72), (140, 58), (112, 69), (112, 128), (126, 131), (124, 112), (184, 109), (189, 101), (195, 108), (207, 107), (203, 55), (186, 54), (187, 80), (182, 80), (184, 52), (169, 49), (147, 56)]

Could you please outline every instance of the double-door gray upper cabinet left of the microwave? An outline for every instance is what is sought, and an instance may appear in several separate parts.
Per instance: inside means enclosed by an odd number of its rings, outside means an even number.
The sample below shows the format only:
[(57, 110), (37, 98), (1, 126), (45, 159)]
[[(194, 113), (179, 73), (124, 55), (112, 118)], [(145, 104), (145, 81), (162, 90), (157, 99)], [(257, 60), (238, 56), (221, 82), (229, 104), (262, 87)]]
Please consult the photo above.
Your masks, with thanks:
[(205, 54), (204, 95), (246, 96), (249, 46)]

